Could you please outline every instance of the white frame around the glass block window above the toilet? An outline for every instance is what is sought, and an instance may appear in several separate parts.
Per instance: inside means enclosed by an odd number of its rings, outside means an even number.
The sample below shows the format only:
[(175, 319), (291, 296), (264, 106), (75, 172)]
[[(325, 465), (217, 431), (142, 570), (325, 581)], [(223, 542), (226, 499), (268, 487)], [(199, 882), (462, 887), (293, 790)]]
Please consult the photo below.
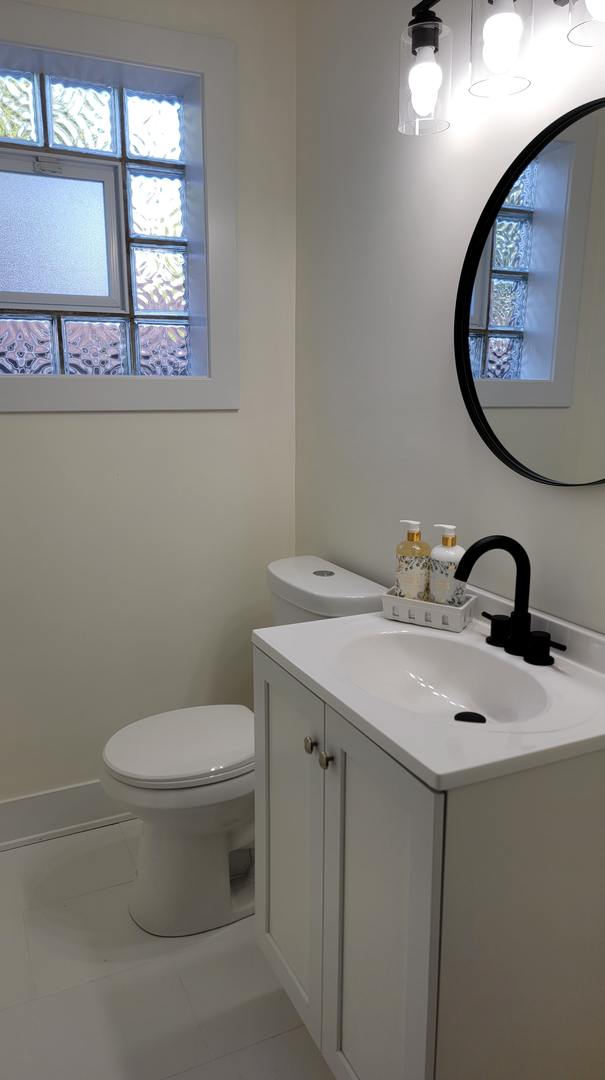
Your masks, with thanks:
[[(127, 67), (129, 89), (177, 93), (184, 98), (188, 143), (197, 149), (197, 158), (186, 164), (187, 216), (191, 220), (192, 214), (200, 214), (205, 222), (203, 242), (190, 244), (190, 289), (201, 288), (207, 297), (205, 316), (191, 311), (190, 330), (193, 348), (205, 362), (207, 327), (209, 374), (186, 378), (3, 375), (0, 411), (239, 408), (233, 44), (41, 8), (36, 9), (33, 19), (29, 5), (25, 10), (18, 0), (5, 0), (1, 36), (0, 66), (4, 69), (38, 71), (41, 51), (46, 71), (57, 78), (116, 84), (107, 78), (108, 66), (121, 72)], [(147, 78), (150, 71), (152, 86)], [(120, 82), (126, 82), (123, 73)], [(146, 321), (145, 315), (137, 318)]]

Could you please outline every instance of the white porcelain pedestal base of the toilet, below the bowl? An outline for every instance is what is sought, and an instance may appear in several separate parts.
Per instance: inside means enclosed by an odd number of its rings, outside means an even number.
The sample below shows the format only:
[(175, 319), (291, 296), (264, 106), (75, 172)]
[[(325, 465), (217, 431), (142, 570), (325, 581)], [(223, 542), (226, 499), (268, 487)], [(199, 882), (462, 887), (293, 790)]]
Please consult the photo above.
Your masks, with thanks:
[(254, 912), (254, 881), (229, 880), (228, 833), (182, 833), (146, 821), (130, 903), (134, 922), (159, 937), (185, 937)]

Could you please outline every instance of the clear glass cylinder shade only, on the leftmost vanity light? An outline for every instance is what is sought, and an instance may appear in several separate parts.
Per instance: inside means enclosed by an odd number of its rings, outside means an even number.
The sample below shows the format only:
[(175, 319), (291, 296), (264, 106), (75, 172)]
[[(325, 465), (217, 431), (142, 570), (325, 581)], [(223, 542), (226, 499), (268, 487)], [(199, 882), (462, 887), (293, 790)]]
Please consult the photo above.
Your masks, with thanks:
[(412, 52), (407, 31), (401, 36), (399, 130), (402, 135), (435, 135), (449, 127), (452, 33), (441, 26), (439, 48)]

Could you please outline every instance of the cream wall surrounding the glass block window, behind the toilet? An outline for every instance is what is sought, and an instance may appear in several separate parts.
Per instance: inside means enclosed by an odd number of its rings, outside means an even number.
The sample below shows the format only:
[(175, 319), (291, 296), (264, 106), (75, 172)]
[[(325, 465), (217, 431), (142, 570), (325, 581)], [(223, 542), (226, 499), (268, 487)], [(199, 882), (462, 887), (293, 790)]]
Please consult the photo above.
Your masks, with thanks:
[(293, 548), (294, 0), (62, 6), (237, 43), (242, 407), (0, 418), (0, 799), (96, 777), (140, 716), (247, 703)]

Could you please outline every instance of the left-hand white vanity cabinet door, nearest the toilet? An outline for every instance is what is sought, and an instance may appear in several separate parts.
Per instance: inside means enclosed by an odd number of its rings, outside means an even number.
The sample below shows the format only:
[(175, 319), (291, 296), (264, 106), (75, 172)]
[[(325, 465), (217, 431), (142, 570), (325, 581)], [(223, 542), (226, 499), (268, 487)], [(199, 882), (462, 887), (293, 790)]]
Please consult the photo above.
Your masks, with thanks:
[[(260, 945), (321, 1042), (324, 705), (255, 649), (256, 919)], [(305, 750), (305, 739), (317, 745)]]

